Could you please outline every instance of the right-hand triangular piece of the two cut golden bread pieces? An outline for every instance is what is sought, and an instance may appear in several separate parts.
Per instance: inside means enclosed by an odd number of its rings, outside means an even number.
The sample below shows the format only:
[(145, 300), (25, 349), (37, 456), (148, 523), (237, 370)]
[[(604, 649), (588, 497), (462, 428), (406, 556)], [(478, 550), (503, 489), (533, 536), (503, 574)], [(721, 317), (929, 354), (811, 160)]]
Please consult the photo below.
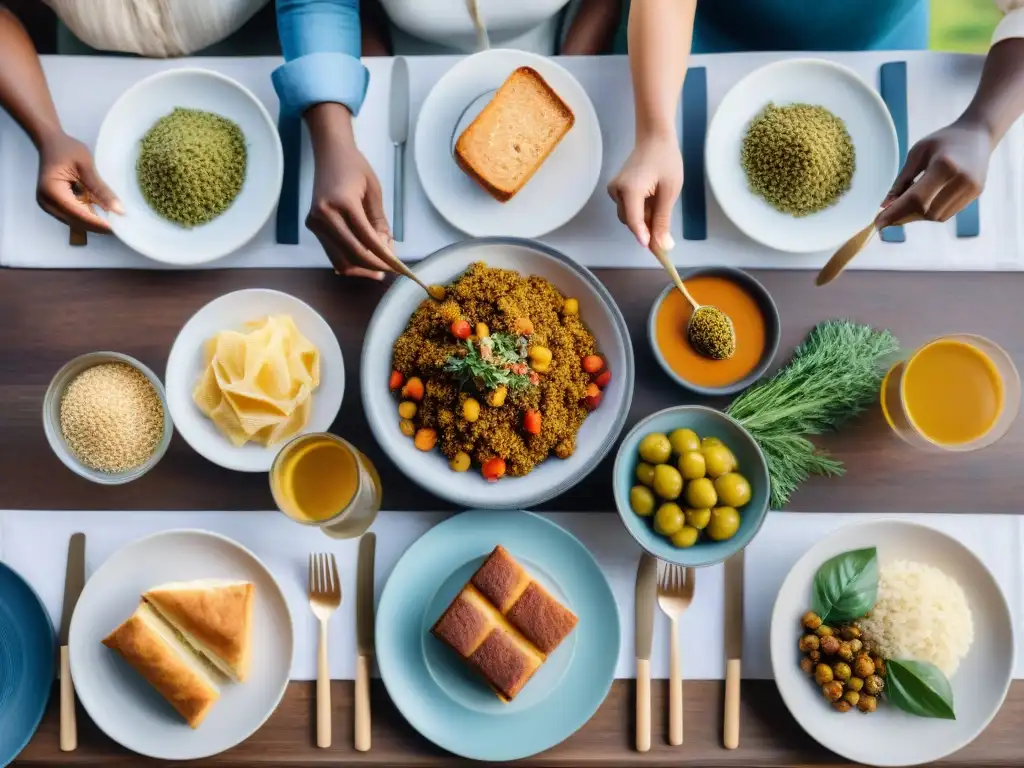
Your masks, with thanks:
[(154, 587), (142, 598), (224, 675), (245, 682), (256, 598), (251, 582), (174, 582)]

